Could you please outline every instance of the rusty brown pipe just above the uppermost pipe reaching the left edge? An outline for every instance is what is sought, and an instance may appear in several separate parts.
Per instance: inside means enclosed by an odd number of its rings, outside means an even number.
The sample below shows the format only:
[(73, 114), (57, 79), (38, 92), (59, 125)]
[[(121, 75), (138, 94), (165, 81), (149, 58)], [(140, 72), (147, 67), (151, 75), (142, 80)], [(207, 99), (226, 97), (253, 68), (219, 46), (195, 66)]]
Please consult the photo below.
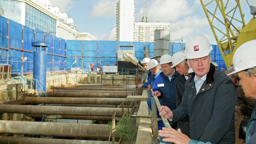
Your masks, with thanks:
[(25, 104), (121, 104), (125, 98), (92, 97), (25, 97)]

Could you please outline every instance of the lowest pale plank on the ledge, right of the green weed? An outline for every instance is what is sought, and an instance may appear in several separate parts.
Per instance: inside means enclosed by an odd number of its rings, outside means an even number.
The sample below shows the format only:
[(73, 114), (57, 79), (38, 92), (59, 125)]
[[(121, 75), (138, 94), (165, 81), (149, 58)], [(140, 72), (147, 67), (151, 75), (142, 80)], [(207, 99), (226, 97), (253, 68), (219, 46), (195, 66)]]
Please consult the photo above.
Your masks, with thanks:
[(140, 124), (135, 144), (151, 144), (152, 129), (149, 124)]

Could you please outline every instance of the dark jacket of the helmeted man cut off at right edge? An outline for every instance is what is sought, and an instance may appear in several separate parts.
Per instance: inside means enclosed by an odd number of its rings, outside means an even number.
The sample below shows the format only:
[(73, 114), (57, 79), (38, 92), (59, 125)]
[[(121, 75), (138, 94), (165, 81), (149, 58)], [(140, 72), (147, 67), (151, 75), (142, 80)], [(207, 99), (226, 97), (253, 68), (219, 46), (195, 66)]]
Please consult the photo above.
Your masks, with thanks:
[(256, 105), (254, 104), (252, 116), (247, 125), (245, 144), (256, 144), (256, 122), (255, 121), (256, 121)]

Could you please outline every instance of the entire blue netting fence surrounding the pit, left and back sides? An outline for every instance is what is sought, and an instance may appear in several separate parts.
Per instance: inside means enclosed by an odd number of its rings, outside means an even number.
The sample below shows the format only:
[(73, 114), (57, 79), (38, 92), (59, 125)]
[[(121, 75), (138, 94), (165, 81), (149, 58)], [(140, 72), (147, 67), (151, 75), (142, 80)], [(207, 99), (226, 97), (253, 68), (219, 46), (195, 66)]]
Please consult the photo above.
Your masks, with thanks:
[[(8, 23), (9, 22), (9, 32)], [(23, 36), (22, 36), (23, 27)], [(22, 48), (23, 57), (28, 59), (23, 64), (23, 72), (33, 72), (33, 49), (32, 42), (49, 43), (46, 58), (47, 71), (70, 70), (72, 63), (78, 63), (72, 67), (88, 68), (88, 64), (94, 63), (96, 66), (114, 65), (117, 62), (117, 50), (119, 46), (134, 46), (135, 57), (141, 61), (144, 58), (144, 50), (149, 47), (150, 57), (153, 57), (154, 43), (152, 42), (127, 42), (127, 41), (81, 41), (64, 40), (52, 34), (30, 29), (24, 25), (8, 20), (0, 16), (0, 63), (7, 63), (7, 35), (8, 40), (8, 63), (12, 65), (12, 72), (21, 72)], [(45, 38), (46, 37), (46, 38)], [(23, 47), (22, 47), (23, 39)], [(185, 43), (170, 43), (169, 54), (183, 50)], [(211, 59), (220, 68), (226, 69), (223, 57), (218, 45), (212, 45)], [(130, 49), (122, 47), (122, 49)], [(67, 51), (66, 51), (67, 50)], [(66, 57), (65, 57), (66, 56)]]

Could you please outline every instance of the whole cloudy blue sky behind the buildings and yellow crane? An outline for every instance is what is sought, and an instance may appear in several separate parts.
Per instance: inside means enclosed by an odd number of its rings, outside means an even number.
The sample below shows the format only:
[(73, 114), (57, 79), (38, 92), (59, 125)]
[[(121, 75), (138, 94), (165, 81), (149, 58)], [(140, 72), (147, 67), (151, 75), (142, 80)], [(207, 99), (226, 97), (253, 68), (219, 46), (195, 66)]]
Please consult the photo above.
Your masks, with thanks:
[[(203, 1), (206, 3), (210, 0)], [(230, 0), (228, 6), (235, 4), (234, 1)], [(250, 5), (256, 6), (256, 0), (247, 1)], [(240, 2), (245, 14), (245, 23), (252, 18), (247, 1)], [(117, 0), (50, 0), (52, 6), (59, 7), (61, 13), (67, 13), (69, 18), (73, 18), (79, 32), (89, 32), (96, 40), (111, 41), (115, 41), (116, 2)], [(143, 16), (143, 0), (134, 0), (134, 5), (135, 22), (140, 22)], [(208, 8), (214, 10), (211, 5)], [(211, 44), (217, 44), (200, 0), (148, 0), (147, 9), (148, 22), (170, 23), (171, 40), (182, 38), (183, 42), (186, 42), (190, 36), (202, 34)], [(217, 11), (217, 15), (221, 16), (221, 13)], [(238, 17), (237, 13), (235, 17)], [(215, 24), (218, 28), (224, 29), (220, 23)], [(217, 35), (222, 37), (221, 33)]]

